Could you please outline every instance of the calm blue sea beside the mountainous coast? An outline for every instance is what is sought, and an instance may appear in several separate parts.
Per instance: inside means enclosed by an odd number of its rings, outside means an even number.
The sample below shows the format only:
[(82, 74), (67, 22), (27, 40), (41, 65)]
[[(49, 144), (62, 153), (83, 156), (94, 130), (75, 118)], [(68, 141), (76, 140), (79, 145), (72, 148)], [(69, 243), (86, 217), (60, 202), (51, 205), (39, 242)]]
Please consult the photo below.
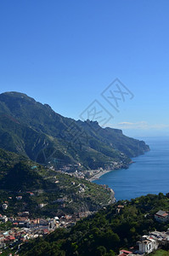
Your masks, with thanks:
[(114, 189), (116, 200), (169, 192), (169, 137), (143, 140), (149, 152), (133, 158), (135, 163), (128, 169), (111, 171), (94, 181)]

